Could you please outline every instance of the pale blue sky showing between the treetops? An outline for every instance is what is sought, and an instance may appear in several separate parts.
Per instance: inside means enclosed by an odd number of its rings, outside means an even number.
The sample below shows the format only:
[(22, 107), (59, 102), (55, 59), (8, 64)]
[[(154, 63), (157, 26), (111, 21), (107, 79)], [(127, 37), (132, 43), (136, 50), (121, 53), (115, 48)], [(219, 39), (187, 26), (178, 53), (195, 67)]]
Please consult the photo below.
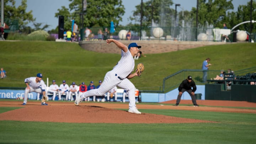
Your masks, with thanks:
[[(125, 8), (125, 14), (123, 15), (123, 21), (120, 22), (121, 25), (127, 25), (130, 23), (128, 20), (129, 16), (132, 16), (135, 11), (135, 6), (141, 3), (141, 0), (122, 0)], [(143, 0), (146, 2), (149, 0)], [(171, 6), (172, 9), (175, 9), (175, 4), (180, 4), (181, 6), (177, 7), (177, 12), (183, 10), (190, 11), (192, 7), (196, 7), (197, 0), (172, 0), (174, 5)], [(239, 5), (246, 5), (250, 0), (233, 0), (234, 11), (237, 11)], [(254, 0), (255, 1), (255, 0)], [(21, 4), (21, 0), (16, 0), (16, 7)], [(54, 17), (55, 13), (58, 12), (58, 9), (61, 9), (61, 6), (69, 7), (69, 0), (27, 0), (27, 12), (32, 10), (33, 16), (36, 18), (37, 23), (43, 23), (43, 25), (50, 25), (46, 30), (55, 29), (58, 26), (58, 18)], [(43, 26), (42, 25), (42, 26)], [(33, 23), (30, 23), (29, 26), (33, 27)]]

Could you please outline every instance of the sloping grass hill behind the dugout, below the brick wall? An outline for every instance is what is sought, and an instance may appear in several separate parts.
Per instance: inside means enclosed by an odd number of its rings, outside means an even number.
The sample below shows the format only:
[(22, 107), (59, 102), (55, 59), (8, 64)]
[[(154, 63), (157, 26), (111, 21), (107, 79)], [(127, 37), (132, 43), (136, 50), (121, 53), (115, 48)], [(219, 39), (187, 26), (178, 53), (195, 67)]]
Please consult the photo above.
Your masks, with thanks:
[[(0, 87), (25, 87), (24, 79), (42, 73), (44, 80), (75, 81), (86, 85), (103, 80), (120, 59), (120, 54), (96, 53), (82, 49), (76, 43), (47, 41), (0, 42), (0, 66), (7, 71), (7, 78), (0, 80)], [(234, 71), (256, 65), (256, 43), (238, 43), (206, 46), (177, 52), (146, 54), (136, 60), (145, 71), (140, 78), (131, 79), (142, 90), (159, 90), (162, 80), (181, 69), (201, 69), (202, 62), (211, 58), (211, 70)], [(146, 53), (146, 52), (145, 52)]]

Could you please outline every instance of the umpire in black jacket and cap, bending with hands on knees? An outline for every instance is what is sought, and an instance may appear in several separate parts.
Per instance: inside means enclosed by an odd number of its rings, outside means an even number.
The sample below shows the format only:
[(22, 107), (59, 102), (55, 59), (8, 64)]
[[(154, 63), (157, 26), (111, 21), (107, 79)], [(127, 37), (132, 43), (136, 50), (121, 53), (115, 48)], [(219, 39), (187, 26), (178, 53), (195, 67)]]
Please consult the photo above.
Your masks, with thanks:
[[(192, 87), (193, 89), (191, 89)], [(180, 86), (178, 87), (178, 91), (179, 91), (179, 94), (178, 94), (175, 106), (178, 106), (178, 104), (180, 103), (181, 96), (185, 91), (188, 92), (188, 94), (190, 94), (194, 107), (198, 106), (196, 103), (196, 96), (194, 94), (194, 92), (196, 91), (196, 84), (192, 80), (192, 76), (189, 75), (186, 80), (183, 80), (181, 82)]]

